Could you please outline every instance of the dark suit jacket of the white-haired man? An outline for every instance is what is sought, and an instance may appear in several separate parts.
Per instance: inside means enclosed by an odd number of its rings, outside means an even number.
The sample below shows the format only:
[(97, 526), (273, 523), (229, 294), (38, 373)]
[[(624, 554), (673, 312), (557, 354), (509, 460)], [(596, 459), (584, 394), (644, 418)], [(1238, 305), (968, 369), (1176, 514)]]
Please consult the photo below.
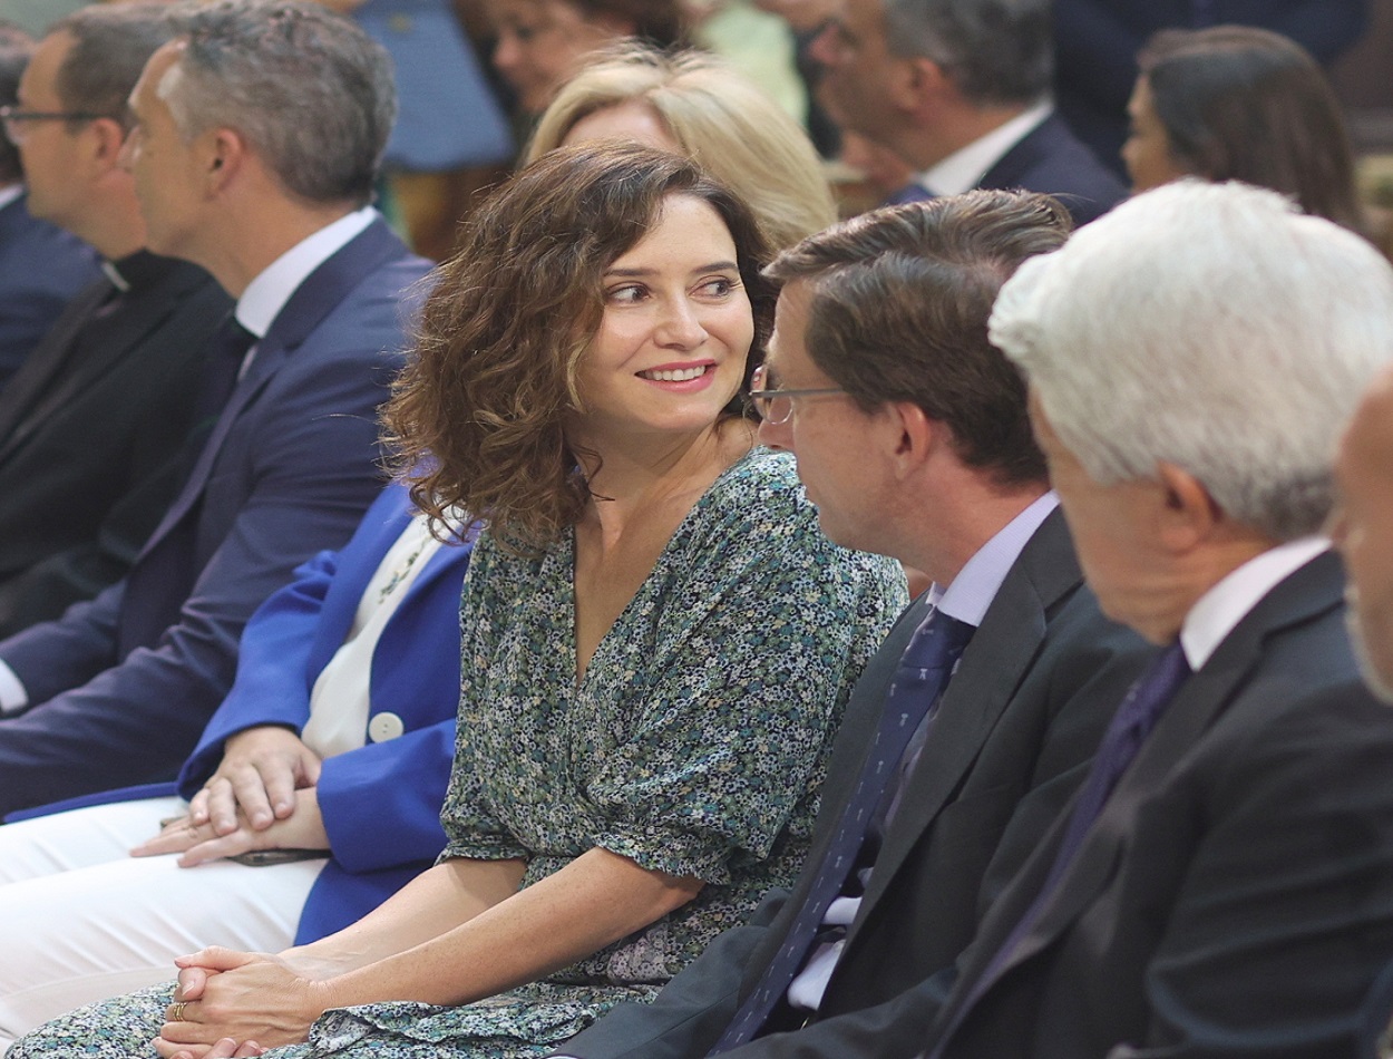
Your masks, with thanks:
[[(1339, 560), (1319, 556), (1181, 686), (946, 1056), (1355, 1055), (1393, 953), (1393, 711), (1360, 683), (1341, 592)], [(935, 1039), (1063, 826), (964, 954)]]

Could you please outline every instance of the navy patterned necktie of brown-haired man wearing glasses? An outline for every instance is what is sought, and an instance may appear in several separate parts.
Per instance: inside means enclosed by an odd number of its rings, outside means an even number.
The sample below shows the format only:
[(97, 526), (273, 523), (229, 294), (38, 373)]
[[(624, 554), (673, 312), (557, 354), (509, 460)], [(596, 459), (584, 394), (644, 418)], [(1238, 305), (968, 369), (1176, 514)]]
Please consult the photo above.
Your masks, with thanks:
[(841, 892), (857, 863), (857, 851), (876, 818), (876, 805), (898, 775), (900, 758), (919, 725), (929, 716), (971, 640), (975, 628), (942, 612), (932, 612), (900, 658), (894, 680), (880, 715), (880, 727), (871, 744), (836, 836), (827, 847), (808, 899), (798, 910), (779, 953), (736, 1013), (710, 1055), (727, 1052), (749, 1041), (763, 1026), (775, 1005), (788, 991), (802, 966), (832, 902)]

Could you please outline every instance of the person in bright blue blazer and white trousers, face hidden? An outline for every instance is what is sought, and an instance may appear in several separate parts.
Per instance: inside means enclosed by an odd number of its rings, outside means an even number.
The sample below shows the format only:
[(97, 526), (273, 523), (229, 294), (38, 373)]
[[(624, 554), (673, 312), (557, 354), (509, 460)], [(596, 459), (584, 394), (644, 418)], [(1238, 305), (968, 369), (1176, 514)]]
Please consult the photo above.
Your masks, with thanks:
[[(248, 621), (233, 690), (180, 772), (192, 805), (149, 784), (0, 828), (0, 1048), (113, 981), (163, 981), (191, 946), (315, 941), (435, 861), (465, 539), (435, 539), (407, 488), (387, 486), (341, 550), (301, 566)], [(287, 847), (309, 854), (224, 860)]]

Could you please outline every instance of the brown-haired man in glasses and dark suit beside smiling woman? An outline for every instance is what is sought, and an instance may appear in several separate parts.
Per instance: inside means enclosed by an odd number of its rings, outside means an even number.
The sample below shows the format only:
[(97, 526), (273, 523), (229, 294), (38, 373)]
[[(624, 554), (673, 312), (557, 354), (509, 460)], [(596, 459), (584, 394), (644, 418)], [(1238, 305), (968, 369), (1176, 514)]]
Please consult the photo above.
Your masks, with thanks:
[[(793, 893), (567, 1055), (875, 1055), (887, 1021), (915, 1021), (915, 988), (951, 966), (1081, 779), (1149, 651), (1082, 585), (1024, 383), (986, 341), (1000, 283), (1067, 230), (1052, 199), (982, 191), (864, 215), (770, 266), (786, 286), (756, 394), (761, 440), (797, 456), (833, 541), (896, 556), (936, 588), (857, 683)], [(898, 686), (914, 677), (901, 666), (958, 623), (975, 633), (921, 726), (935, 690), (905, 699)], [(840, 832), (879, 775), (869, 762), (886, 719), (922, 730), (887, 755), (894, 779), (869, 811), (879, 822), (846, 854)], [(855, 865), (830, 879), (827, 904), (820, 878), (837, 857)]]

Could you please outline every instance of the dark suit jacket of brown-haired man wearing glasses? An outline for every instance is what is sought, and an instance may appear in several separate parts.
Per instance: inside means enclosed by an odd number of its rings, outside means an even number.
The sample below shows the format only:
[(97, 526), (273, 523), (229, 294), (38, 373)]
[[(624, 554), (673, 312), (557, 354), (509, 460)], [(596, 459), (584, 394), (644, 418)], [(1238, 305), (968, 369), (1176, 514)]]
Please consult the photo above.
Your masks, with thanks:
[[(752, 925), (717, 938), (651, 1006), (617, 1009), (563, 1053), (695, 1058), (716, 1042), (812, 885), (924, 612), (922, 599), (905, 612), (853, 691), (809, 868), (791, 897), (772, 895)], [(875, 1053), (886, 1010), (950, 967), (971, 941), (1000, 881), (1082, 779), (1113, 708), (1149, 655), (1099, 614), (1063, 517), (1053, 513), (1002, 584), (944, 693), (823, 996), (822, 1020), (730, 1055)], [(917, 1010), (911, 1005), (911, 1019)], [(922, 1035), (926, 1023), (919, 1028)]]

